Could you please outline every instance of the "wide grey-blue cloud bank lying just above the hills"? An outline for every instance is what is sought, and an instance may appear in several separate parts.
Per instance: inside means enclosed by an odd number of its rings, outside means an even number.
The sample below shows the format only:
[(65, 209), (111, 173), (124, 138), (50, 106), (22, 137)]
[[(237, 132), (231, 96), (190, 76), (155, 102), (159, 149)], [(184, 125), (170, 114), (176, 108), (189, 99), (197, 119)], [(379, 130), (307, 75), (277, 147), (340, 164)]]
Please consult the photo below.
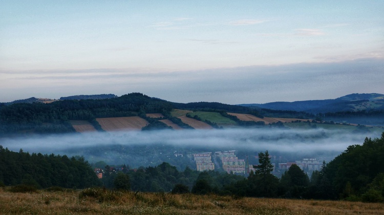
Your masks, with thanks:
[(324, 56), (318, 59), (324, 61), (321, 63), (187, 71), (150, 68), (0, 71), (3, 83), (0, 91), (4, 92), (0, 102), (71, 94), (142, 92), (172, 102), (243, 104), (333, 99), (356, 92), (384, 93), (383, 58), (350, 56), (357, 59), (346, 61), (347, 57), (326, 59)]

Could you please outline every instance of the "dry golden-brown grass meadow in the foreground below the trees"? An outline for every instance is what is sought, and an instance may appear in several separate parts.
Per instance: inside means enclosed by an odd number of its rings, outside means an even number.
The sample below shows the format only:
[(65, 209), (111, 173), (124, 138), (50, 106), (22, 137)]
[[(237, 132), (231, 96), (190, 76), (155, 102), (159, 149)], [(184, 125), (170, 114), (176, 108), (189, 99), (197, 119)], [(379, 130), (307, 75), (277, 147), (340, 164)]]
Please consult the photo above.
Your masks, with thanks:
[(0, 188), (1, 214), (384, 214), (384, 204), (232, 198), (85, 189), (11, 193)]

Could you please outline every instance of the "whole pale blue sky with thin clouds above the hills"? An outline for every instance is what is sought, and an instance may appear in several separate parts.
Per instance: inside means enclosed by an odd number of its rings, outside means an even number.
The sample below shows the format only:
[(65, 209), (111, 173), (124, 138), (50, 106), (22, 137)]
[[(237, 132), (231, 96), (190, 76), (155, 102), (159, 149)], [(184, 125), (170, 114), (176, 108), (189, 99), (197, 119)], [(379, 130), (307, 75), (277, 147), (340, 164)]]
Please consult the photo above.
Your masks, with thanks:
[(0, 102), (384, 94), (384, 1), (0, 0)]

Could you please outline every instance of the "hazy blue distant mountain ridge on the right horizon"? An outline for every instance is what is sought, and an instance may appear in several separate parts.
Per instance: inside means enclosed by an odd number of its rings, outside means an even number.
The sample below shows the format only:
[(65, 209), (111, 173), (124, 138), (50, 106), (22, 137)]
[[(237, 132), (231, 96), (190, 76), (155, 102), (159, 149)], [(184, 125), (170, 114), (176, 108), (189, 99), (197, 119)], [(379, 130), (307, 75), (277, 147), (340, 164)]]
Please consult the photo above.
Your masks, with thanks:
[(384, 94), (353, 93), (337, 99), (240, 104), (240, 106), (259, 107), (271, 110), (304, 111), (308, 113), (381, 110), (384, 109)]

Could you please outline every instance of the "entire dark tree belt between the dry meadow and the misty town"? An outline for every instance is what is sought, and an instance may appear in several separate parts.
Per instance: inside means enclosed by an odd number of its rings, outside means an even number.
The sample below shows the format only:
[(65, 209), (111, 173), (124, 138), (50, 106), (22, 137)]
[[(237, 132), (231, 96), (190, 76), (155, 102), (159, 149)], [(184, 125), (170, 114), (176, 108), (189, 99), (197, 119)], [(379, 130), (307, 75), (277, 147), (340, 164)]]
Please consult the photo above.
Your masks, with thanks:
[(87, 161), (67, 156), (11, 152), (0, 147), (0, 184), (19, 183), (39, 187), (104, 186), (140, 192), (173, 192), (269, 198), (344, 199), (384, 202), (384, 133), (366, 138), (362, 145), (349, 146), (311, 178), (297, 165), (279, 179), (271, 174), (273, 164), (268, 151), (259, 153), (255, 172), (247, 177), (216, 171), (197, 172), (186, 167), (179, 172), (166, 162), (131, 170), (104, 166), (98, 181)]

